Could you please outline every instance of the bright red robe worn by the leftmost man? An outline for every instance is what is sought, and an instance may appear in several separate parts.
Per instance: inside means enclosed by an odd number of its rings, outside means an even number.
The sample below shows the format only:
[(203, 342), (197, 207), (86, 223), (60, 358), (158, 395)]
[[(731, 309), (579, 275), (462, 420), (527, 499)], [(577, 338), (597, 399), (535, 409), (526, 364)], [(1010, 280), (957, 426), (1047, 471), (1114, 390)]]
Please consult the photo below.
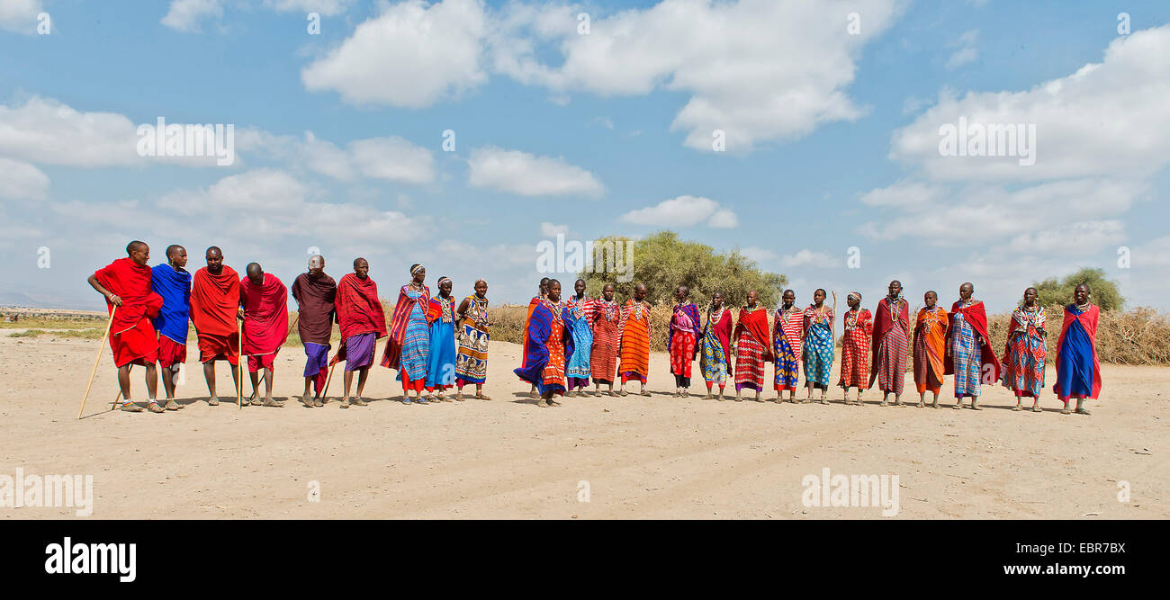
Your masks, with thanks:
[(117, 311), (110, 301), (105, 302), (106, 311), (115, 313), (110, 324), (110, 350), (119, 367), (158, 359), (158, 337), (150, 319), (163, 309), (163, 297), (151, 290), (152, 273), (150, 267), (137, 264), (129, 256), (94, 273), (103, 288), (122, 298)]

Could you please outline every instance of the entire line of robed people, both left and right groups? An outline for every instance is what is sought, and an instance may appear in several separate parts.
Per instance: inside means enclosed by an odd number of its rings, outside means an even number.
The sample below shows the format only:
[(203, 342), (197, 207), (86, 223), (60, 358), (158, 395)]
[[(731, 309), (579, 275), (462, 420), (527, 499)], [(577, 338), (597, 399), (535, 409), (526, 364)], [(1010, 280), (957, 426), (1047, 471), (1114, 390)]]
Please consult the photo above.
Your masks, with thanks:
[[(273, 399), (275, 358), (291, 332), (285, 309), (289, 289), (275, 275), (249, 263), (245, 277), (223, 264), (223, 253), (211, 247), (205, 253), (206, 267), (192, 275), (186, 270), (187, 253), (181, 246), (166, 249), (167, 262), (147, 267), (150, 247), (130, 242), (128, 256), (113, 261), (89, 277), (90, 285), (102, 294), (111, 315), (110, 347), (118, 367), (122, 409), (140, 412), (131, 400), (130, 368), (146, 370), (150, 395), (146, 409), (153, 413), (183, 408), (174, 401), (176, 373), (186, 360), (188, 322), (195, 326), (199, 360), (209, 392), (208, 404), (218, 405), (215, 363), (227, 361), (232, 377), (240, 386), (241, 356), (247, 357), (253, 393), (249, 404), (283, 406)], [(297, 303), (296, 326), (304, 345), (304, 392), (301, 401), (316, 408), (328, 404), (326, 392), (332, 370), (345, 361), (342, 408), (366, 406), (363, 393), (373, 365), (378, 339), (386, 338), (380, 364), (398, 371), (402, 385), (402, 402), (427, 405), (433, 401), (462, 401), (463, 388), (475, 385), (475, 398), (490, 400), (483, 393), (488, 372), (488, 283), (476, 280), (473, 294), (462, 299), (452, 295), (449, 277), (440, 277), (438, 292), (426, 285), (426, 268), (413, 264), (410, 281), (399, 289), (398, 302), (387, 327), (378, 285), (370, 278), (370, 263), (353, 261), (353, 273), (336, 281), (325, 274), (325, 260), (311, 256), (305, 273), (292, 283), (291, 296)], [(647, 389), (651, 351), (651, 305), (642, 283), (634, 285), (633, 296), (619, 304), (612, 283), (600, 298), (585, 294), (585, 281), (577, 280), (573, 292), (562, 298), (560, 282), (545, 277), (528, 306), (524, 325), (523, 354), (514, 372), (531, 384), (530, 393), (537, 406), (559, 406), (556, 396), (584, 395), (590, 379), (593, 394), (626, 396), (631, 380), (639, 382), (638, 394)], [(861, 294), (846, 297), (847, 310), (841, 315), (841, 359), (835, 385), (842, 389), (846, 405), (861, 406), (862, 393), (876, 384), (882, 392), (881, 406), (902, 404), (906, 373), (913, 372), (918, 392), (918, 407), (927, 406), (927, 393), (934, 395), (931, 407), (938, 407), (944, 375), (952, 375), (955, 408), (980, 409), (980, 385), (1003, 381), (1017, 396), (1032, 398), (1032, 411), (1039, 412), (1039, 398), (1045, 385), (1046, 316), (1037, 303), (1037, 290), (1028, 288), (1012, 313), (1003, 358), (997, 357), (987, 336), (987, 316), (983, 303), (975, 299), (975, 287), (959, 287), (959, 299), (947, 311), (937, 305), (938, 295), (925, 292), (924, 306), (910, 324), (909, 303), (902, 297), (902, 284), (893, 281), (889, 294), (874, 312), (861, 306)], [(1057, 382), (1053, 389), (1064, 404), (1064, 413), (1076, 399), (1075, 412), (1089, 414), (1086, 399), (1095, 399), (1101, 389), (1101, 368), (1096, 356), (1096, 323), (1100, 309), (1089, 302), (1088, 285), (1078, 285), (1073, 303), (1065, 306), (1064, 323), (1057, 344)], [(675, 395), (686, 396), (691, 370), (698, 361), (707, 385), (704, 399), (727, 399), (725, 387), (735, 384), (735, 400), (743, 400), (743, 389), (755, 391), (763, 402), (764, 378), (773, 364), (776, 402), (798, 402), (796, 394), (803, 364), (807, 394), (799, 402), (828, 404), (834, 349), (837, 345), (835, 304), (826, 303), (827, 294), (818, 289), (812, 303), (799, 309), (793, 290), (784, 290), (782, 304), (772, 311), (759, 304), (756, 290), (748, 292), (746, 303), (732, 319), (732, 309), (724, 305), (723, 295), (713, 294), (706, 309), (689, 301), (686, 285), (675, 289), (667, 336), (670, 373)], [(333, 323), (340, 331), (337, 352), (332, 350)], [(166, 404), (157, 398), (158, 368)], [(264, 396), (259, 398), (259, 378), (263, 374)], [(357, 377), (356, 393), (353, 374)], [(614, 385), (620, 387), (614, 389)], [(717, 394), (714, 387), (718, 386)], [(849, 389), (856, 388), (853, 399)], [(240, 387), (242, 391), (242, 387)], [(453, 392), (453, 393), (452, 393)]]

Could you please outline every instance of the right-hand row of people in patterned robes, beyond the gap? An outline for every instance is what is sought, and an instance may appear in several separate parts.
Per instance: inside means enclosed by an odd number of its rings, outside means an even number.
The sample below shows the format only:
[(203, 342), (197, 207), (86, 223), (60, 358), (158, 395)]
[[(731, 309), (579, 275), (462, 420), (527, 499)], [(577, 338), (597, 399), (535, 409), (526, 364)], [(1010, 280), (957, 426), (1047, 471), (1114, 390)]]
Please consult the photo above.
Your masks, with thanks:
[[(1012, 313), (1002, 359), (991, 347), (986, 310), (983, 302), (972, 297), (971, 283), (959, 287), (959, 298), (950, 311), (937, 305), (937, 292), (927, 291), (925, 305), (918, 310), (913, 326), (901, 282), (890, 282), (888, 289), (888, 296), (879, 301), (873, 312), (861, 306), (860, 292), (851, 292), (846, 298), (848, 309), (841, 315), (841, 361), (835, 382), (846, 405), (862, 406), (863, 391), (876, 384), (882, 392), (881, 406), (889, 406), (890, 396), (893, 406), (907, 406), (902, 404), (902, 393), (906, 373), (913, 371), (918, 407), (927, 406), (929, 392), (934, 396), (929, 406), (937, 408), (944, 375), (952, 375), (955, 408), (962, 408), (964, 399), (970, 398), (970, 407), (980, 409), (980, 384), (1003, 381), (1016, 394), (1016, 411), (1023, 409), (1024, 398), (1032, 398), (1032, 411), (1040, 412), (1047, 329), (1034, 288), (1025, 290)], [(640, 393), (649, 395), (646, 381), (651, 318), (644, 284), (636, 284), (633, 297), (620, 306), (613, 299), (612, 284), (597, 299), (585, 296), (583, 280), (576, 282), (574, 295), (566, 301), (560, 299), (557, 280), (542, 280), (539, 290), (529, 304), (524, 363), (515, 371), (532, 385), (538, 406), (558, 406), (555, 396), (583, 393), (590, 372), (594, 394), (599, 395), (600, 387), (607, 385), (610, 394), (627, 395), (626, 382), (636, 379)], [(813, 294), (813, 302), (805, 309), (797, 308), (793, 290), (785, 290), (771, 330), (769, 311), (759, 305), (756, 290), (748, 292), (746, 305), (735, 319), (723, 304), (723, 295), (715, 292), (706, 310), (706, 323), (700, 318), (698, 306), (688, 299), (689, 294), (686, 285), (676, 288), (667, 337), (675, 395), (688, 394), (691, 365), (697, 359), (707, 384), (704, 399), (724, 400), (731, 381), (736, 401), (743, 400), (743, 389), (748, 388), (762, 402), (765, 371), (771, 363), (776, 402), (784, 401), (784, 392), (789, 393), (789, 401), (798, 401), (796, 392), (803, 365), (807, 395), (800, 402), (813, 402), (814, 391), (820, 389), (819, 401), (828, 404), (837, 319), (834, 309), (825, 302), (824, 289)], [(1076, 413), (1089, 414), (1085, 400), (1097, 398), (1101, 389), (1095, 347), (1100, 309), (1092, 304), (1089, 295), (1087, 284), (1075, 288), (1073, 302), (1065, 306), (1057, 344), (1053, 392), (1064, 402), (1065, 414), (1073, 412), (1072, 399), (1076, 399)], [(619, 358), (617, 373), (621, 388), (615, 393), (613, 366)], [(716, 385), (718, 393), (714, 394)], [(851, 388), (856, 389), (852, 400)]]

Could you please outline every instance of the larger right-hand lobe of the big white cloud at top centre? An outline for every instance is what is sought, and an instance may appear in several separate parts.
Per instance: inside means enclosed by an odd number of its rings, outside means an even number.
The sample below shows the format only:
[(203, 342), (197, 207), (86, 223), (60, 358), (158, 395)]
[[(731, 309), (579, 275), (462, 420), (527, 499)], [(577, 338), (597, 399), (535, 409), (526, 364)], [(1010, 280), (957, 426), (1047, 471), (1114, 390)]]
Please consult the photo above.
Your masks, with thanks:
[[(690, 96), (672, 130), (684, 144), (711, 150), (711, 132), (728, 149), (794, 139), (817, 125), (853, 120), (863, 109), (847, 96), (856, 56), (901, 12), (895, 0), (663, 0), (645, 9), (594, 16), (578, 35), (578, 8), (515, 12), (489, 40), (493, 68), (553, 94)], [(861, 15), (848, 35), (846, 15)], [(828, 18), (839, 15), (839, 19)], [(548, 42), (562, 60), (538, 57)], [(777, 60), (783, 57), (783, 60)], [(558, 57), (559, 58), (559, 57)]]

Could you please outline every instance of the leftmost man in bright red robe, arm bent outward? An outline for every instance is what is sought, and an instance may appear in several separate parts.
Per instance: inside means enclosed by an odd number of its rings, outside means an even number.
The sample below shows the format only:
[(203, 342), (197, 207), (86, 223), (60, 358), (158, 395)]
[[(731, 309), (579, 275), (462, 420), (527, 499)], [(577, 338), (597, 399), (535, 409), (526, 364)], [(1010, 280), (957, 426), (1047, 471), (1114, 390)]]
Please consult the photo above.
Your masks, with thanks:
[(158, 337), (151, 318), (163, 308), (163, 297), (151, 290), (150, 246), (135, 240), (126, 246), (126, 257), (118, 258), (89, 276), (89, 284), (105, 297), (111, 313), (110, 350), (118, 367), (118, 387), (122, 388), (122, 409), (140, 413), (143, 409), (130, 399), (130, 366), (146, 367), (147, 408), (164, 412), (158, 406)]

